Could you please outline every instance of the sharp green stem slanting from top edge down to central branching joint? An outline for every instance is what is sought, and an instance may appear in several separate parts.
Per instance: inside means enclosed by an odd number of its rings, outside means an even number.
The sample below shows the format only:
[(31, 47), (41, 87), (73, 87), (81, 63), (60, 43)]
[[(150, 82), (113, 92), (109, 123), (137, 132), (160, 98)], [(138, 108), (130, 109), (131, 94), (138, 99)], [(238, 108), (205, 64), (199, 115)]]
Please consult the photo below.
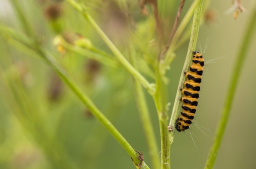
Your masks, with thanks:
[(138, 72), (122, 55), (122, 53), (116, 48), (116, 46), (112, 43), (112, 41), (108, 38), (108, 36), (101, 30), (101, 28), (97, 25), (97, 23), (94, 21), (94, 19), (90, 16), (88, 13), (88, 9), (81, 4), (77, 3), (74, 0), (66, 0), (72, 7), (74, 7), (76, 10), (78, 10), (83, 17), (89, 22), (89, 24), (94, 28), (94, 30), (100, 35), (100, 37), (105, 41), (105, 43), (108, 45), (108, 47), (112, 50), (116, 58), (119, 60), (119, 62), (127, 69), (128, 72), (134, 76), (135, 79), (137, 79), (141, 85), (148, 90), (150, 94), (155, 93), (155, 87), (154, 85), (150, 84), (147, 79), (144, 78), (144, 76), (141, 75), (140, 72)]

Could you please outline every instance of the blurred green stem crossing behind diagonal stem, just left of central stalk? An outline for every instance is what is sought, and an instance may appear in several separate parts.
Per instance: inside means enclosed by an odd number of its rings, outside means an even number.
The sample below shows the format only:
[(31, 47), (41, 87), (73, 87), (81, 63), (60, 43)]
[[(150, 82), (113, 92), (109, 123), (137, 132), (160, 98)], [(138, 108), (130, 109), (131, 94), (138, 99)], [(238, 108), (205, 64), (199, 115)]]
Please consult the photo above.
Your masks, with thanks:
[[(130, 45), (130, 52), (131, 52), (130, 54), (131, 63), (135, 68), (137, 68), (137, 62), (135, 59), (136, 53), (133, 48), (133, 45)], [(146, 141), (148, 144), (149, 156), (151, 158), (152, 166), (154, 169), (159, 169), (159, 166), (160, 166), (159, 150), (157, 147), (155, 132), (153, 129), (153, 125), (151, 123), (151, 119), (148, 111), (148, 105), (143, 92), (143, 88), (141, 87), (141, 84), (136, 79), (134, 79), (133, 83), (134, 83), (135, 98), (136, 98), (137, 106), (139, 109), (139, 115), (141, 117), (141, 124), (143, 125), (144, 134), (146, 136)]]

